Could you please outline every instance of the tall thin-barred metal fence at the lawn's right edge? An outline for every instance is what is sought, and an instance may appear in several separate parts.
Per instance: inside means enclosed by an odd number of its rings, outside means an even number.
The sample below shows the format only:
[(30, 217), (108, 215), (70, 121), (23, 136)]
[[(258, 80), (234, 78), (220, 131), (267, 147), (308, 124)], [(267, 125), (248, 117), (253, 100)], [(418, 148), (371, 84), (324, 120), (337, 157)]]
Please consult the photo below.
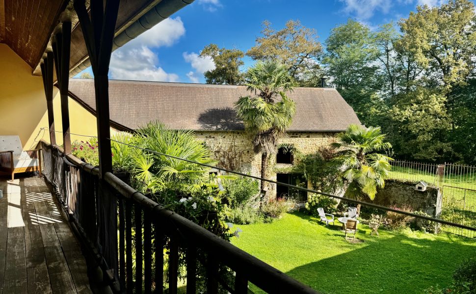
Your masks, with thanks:
[[(476, 226), (476, 167), (451, 163), (430, 164), (393, 161), (390, 178), (400, 181), (424, 181), (440, 188), (441, 218), (446, 221)], [(443, 231), (475, 238), (471, 230), (444, 225)]]

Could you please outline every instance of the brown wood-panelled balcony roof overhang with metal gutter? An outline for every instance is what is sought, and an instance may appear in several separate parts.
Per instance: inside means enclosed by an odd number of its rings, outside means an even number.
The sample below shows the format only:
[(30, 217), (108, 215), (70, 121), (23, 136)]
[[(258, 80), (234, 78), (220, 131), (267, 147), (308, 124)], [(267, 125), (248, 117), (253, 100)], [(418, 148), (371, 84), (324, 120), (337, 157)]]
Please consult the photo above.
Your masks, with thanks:
[[(121, 1), (114, 49), (167, 18), (193, 0)], [(0, 0), (0, 43), (8, 45), (41, 75), (40, 63), (51, 50), (51, 36), (63, 20), (72, 22), (70, 75), (84, 70), (88, 53), (71, 0)]]

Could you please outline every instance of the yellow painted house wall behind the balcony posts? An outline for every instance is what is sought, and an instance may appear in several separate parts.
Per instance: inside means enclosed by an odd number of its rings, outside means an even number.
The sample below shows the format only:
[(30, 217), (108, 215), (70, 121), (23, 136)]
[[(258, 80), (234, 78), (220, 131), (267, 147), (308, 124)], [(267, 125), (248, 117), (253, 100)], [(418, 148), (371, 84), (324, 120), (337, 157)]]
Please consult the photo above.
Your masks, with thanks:
[[(53, 88), (56, 144), (62, 145), (61, 99)], [(96, 117), (69, 98), (70, 132), (97, 136)], [(111, 134), (117, 131), (111, 128)], [(31, 75), (31, 68), (13, 50), (0, 44), (0, 135), (19, 135), (24, 149), (36, 147), (41, 139), (50, 142), (48, 112), (41, 76)], [(87, 137), (71, 135), (71, 141)]]

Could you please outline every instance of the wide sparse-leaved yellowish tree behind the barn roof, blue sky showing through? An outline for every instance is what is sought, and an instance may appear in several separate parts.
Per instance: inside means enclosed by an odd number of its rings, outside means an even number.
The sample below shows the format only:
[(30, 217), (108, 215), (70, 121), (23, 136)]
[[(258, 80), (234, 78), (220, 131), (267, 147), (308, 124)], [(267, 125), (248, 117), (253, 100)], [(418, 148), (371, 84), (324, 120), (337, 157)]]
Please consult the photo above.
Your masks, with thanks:
[(299, 21), (290, 20), (281, 30), (275, 30), (268, 21), (263, 22), (262, 36), (256, 46), (246, 52), (254, 60), (276, 59), (284, 63), (299, 86), (317, 86), (322, 76), (318, 60), (322, 46), (316, 30)]

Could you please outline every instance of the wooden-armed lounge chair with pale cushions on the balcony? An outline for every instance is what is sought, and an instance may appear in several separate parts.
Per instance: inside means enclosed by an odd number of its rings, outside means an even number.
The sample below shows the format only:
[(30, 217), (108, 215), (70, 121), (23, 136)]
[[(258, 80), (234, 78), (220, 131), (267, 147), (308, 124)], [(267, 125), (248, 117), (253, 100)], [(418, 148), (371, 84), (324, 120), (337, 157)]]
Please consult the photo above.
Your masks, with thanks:
[(40, 172), (40, 150), (23, 150), (19, 136), (0, 136), (0, 172)]

